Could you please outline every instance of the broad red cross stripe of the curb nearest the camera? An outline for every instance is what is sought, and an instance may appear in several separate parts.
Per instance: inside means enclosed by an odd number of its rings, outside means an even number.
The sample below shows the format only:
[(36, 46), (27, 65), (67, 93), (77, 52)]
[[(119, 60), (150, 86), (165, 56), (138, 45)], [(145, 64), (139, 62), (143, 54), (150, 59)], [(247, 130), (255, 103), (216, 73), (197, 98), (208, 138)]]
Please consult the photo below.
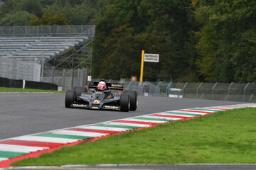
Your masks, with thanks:
[(26, 140), (6, 140), (0, 142), (0, 144), (7, 145), (20, 145), (20, 146), (28, 146), (28, 147), (60, 147), (63, 144), (60, 143), (52, 143), (52, 142), (34, 142), (34, 141), (26, 141)]

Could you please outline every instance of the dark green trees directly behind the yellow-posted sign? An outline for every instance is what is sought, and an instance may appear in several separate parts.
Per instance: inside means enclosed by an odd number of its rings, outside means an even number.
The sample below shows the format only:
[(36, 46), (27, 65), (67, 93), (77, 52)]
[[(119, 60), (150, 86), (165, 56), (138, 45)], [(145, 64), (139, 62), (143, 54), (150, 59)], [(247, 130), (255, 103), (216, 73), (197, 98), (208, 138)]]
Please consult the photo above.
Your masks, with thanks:
[[(182, 79), (191, 75), (191, 69), (196, 68), (192, 33), (196, 26), (187, 6), (187, 0), (107, 1), (105, 11), (96, 20), (92, 76), (139, 77), (142, 50), (160, 55), (159, 63), (144, 63), (144, 77)], [(127, 30), (116, 33), (122, 28)], [(117, 76), (112, 77), (107, 67), (113, 68)]]

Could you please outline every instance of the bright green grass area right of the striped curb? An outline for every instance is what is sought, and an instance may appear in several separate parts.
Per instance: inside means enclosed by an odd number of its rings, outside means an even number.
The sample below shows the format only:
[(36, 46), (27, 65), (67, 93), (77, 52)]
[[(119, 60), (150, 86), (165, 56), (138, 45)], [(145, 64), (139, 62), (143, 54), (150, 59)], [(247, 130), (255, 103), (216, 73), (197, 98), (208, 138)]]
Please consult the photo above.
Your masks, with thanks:
[(12, 165), (189, 163), (255, 164), (256, 108), (219, 112), (114, 135)]

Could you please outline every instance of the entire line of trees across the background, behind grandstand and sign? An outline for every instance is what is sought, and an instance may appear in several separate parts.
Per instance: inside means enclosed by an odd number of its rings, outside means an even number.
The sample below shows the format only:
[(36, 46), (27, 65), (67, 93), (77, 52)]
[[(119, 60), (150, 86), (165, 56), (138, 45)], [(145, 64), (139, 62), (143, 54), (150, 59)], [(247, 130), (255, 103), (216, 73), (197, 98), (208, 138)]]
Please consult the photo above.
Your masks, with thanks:
[(92, 77), (255, 82), (256, 1), (4, 0), (0, 26), (95, 24)]

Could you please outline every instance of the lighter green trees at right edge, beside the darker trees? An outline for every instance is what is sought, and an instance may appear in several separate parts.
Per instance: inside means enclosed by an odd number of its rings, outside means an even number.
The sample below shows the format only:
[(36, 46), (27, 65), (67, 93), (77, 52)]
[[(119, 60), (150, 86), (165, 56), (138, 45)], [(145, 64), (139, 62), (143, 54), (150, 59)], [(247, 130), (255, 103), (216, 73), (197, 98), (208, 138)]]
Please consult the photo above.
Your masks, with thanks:
[(256, 1), (215, 0), (195, 11), (198, 68), (207, 81), (255, 81)]

